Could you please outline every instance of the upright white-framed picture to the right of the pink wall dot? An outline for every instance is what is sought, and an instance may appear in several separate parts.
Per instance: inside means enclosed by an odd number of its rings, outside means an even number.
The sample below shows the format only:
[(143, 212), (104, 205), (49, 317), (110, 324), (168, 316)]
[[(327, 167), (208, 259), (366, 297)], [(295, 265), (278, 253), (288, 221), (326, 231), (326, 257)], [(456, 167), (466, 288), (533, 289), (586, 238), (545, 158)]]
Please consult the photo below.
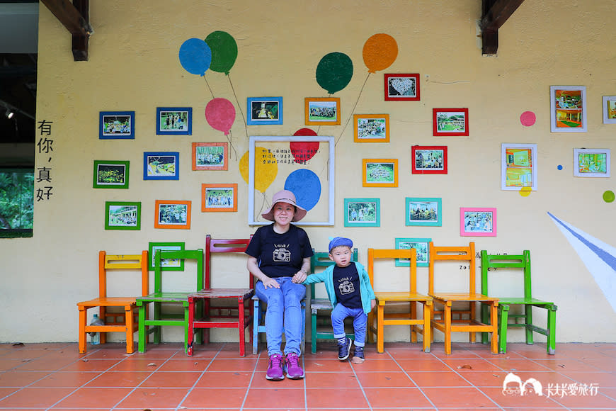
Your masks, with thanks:
[(549, 120), (552, 133), (586, 132), (586, 87), (550, 86)]

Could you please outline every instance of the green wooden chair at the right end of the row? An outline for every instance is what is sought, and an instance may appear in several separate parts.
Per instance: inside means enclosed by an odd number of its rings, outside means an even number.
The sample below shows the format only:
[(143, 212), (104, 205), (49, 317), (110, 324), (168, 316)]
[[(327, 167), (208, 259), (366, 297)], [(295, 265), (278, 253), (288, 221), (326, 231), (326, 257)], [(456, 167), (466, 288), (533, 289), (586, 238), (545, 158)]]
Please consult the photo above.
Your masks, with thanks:
[[(481, 250), (481, 293), (488, 293), (488, 272), (493, 276), (503, 273), (503, 271), (522, 271), (524, 276), (524, 296), (523, 297), (500, 297), (498, 300), (498, 352), (501, 354), (507, 351), (507, 328), (524, 327), (526, 331), (526, 344), (532, 345), (532, 332), (538, 332), (547, 337), (547, 354), (556, 354), (556, 310), (557, 306), (550, 301), (537, 300), (532, 298), (530, 280), (530, 251), (524, 250), (523, 254), (488, 254), (486, 250)], [(511, 305), (521, 305), (522, 314), (510, 314)], [(532, 307), (544, 308), (547, 310), (547, 328), (537, 327), (532, 324)], [(513, 324), (509, 323), (509, 318), (513, 318)], [(518, 322), (522, 318), (523, 322)], [(487, 307), (481, 307), (481, 320), (489, 321)], [(487, 334), (481, 336), (484, 343), (487, 342)]]

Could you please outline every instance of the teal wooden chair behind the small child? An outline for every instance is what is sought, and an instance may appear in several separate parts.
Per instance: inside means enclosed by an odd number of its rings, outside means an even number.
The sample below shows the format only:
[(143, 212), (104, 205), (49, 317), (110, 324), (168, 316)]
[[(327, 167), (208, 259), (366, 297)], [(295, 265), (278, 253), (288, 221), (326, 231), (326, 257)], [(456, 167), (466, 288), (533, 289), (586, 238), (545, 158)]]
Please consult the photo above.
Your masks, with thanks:
[[(329, 259), (329, 252), (314, 252), (310, 258), (310, 266), (312, 268), (312, 272), (316, 271), (316, 267), (328, 267), (333, 264), (336, 264), (331, 259)], [(353, 249), (353, 259), (352, 261), (357, 261), (358, 259), (358, 250), (356, 248)], [(316, 354), (316, 340), (317, 339), (335, 339), (333, 337), (333, 329), (331, 327), (331, 310), (333, 307), (331, 306), (331, 302), (329, 298), (316, 298), (315, 291), (316, 284), (310, 284), (310, 330), (311, 330), (311, 351), (312, 354)], [(321, 315), (319, 315), (319, 311), (321, 311)], [(323, 312), (326, 311), (327, 314), (324, 315)], [(324, 326), (324, 327), (317, 327)], [(352, 332), (347, 333), (347, 337), (350, 339), (355, 339), (355, 334)]]

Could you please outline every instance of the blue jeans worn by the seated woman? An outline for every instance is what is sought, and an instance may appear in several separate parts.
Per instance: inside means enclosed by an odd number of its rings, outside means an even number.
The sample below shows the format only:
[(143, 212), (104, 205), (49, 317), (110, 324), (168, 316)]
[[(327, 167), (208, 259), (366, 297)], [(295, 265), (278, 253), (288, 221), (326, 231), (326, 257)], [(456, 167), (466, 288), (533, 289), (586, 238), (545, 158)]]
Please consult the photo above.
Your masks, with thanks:
[(300, 344), (304, 334), (304, 319), (302, 318), (302, 303), (306, 297), (306, 286), (291, 281), (291, 277), (278, 277), (276, 281), (280, 288), (265, 288), (261, 281), (255, 285), (255, 293), (259, 300), (268, 304), (266, 311), (266, 337), (268, 340), (268, 356), (283, 354), (280, 346), (283, 344), (283, 328), (285, 331), (285, 354), (294, 352), (302, 354)]

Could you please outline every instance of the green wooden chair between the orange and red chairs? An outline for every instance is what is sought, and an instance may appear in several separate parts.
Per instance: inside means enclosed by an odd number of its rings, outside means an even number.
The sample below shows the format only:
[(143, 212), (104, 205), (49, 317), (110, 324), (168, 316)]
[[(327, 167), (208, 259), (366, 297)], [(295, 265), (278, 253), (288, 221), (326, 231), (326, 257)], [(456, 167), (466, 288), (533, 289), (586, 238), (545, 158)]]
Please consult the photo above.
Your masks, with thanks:
[[(165, 278), (163, 290), (162, 264), (164, 259), (194, 259), (197, 262), (195, 287), (190, 292), (171, 291), (173, 283)], [(181, 271), (164, 271), (165, 277), (178, 274)], [(139, 309), (139, 352), (145, 352), (148, 334), (154, 334), (154, 344), (161, 342), (161, 327), (172, 325), (184, 327), (184, 351), (188, 353), (188, 294), (200, 291), (203, 288), (203, 249), (195, 250), (157, 250), (154, 255), (154, 293), (137, 298)], [(154, 315), (151, 320), (146, 318), (146, 310), (150, 303), (154, 304)], [(163, 313), (162, 305), (181, 305), (182, 313)], [(203, 300), (195, 304), (195, 310), (203, 313)], [(197, 342), (203, 344), (203, 329), (197, 330)]]

